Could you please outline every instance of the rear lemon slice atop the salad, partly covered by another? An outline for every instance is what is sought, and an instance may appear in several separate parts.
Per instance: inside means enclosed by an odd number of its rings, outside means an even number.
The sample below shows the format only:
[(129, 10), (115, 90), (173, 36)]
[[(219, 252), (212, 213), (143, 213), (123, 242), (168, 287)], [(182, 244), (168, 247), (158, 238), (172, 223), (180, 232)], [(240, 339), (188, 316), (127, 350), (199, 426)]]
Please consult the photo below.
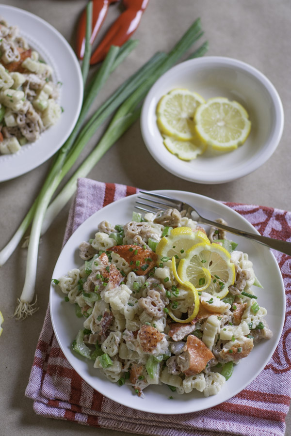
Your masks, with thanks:
[(171, 230), (169, 236), (163, 236), (157, 245), (158, 263), (163, 258), (169, 260), (173, 256), (177, 260), (182, 259), (185, 257), (186, 251), (199, 242), (210, 244), (208, 237), (201, 230), (193, 231), (190, 227), (176, 227)]

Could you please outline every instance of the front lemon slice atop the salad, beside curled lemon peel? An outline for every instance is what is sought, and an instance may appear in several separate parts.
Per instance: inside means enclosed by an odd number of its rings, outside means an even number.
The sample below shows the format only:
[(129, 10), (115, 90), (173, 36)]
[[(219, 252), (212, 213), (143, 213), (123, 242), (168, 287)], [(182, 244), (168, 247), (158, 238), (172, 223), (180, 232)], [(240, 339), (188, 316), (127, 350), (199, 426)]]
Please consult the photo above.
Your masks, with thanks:
[(229, 252), (219, 244), (197, 244), (187, 251), (184, 259), (181, 259), (178, 276), (184, 282), (190, 281), (195, 284), (197, 277), (201, 277), (202, 268), (207, 268), (211, 275), (211, 281), (204, 291), (224, 298), (228, 293), (228, 286), (235, 280), (234, 264), (230, 262)]

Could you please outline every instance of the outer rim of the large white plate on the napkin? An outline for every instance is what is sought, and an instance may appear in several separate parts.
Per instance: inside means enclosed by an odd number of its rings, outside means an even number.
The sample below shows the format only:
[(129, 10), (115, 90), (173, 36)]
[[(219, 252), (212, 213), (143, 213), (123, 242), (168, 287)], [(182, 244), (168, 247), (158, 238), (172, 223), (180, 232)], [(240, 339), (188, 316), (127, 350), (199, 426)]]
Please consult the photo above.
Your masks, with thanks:
[[(251, 230), (253, 230), (254, 231), (254, 233), (257, 233), (257, 234), (259, 234), (259, 232), (256, 230), (256, 228), (246, 219), (246, 218), (244, 218), (241, 214), (239, 214), (237, 211), (235, 211), (235, 210), (233, 210), (233, 209), (231, 209), (229, 206), (227, 206), (227, 204), (225, 204), (224, 202), (219, 202), (219, 201), (217, 201), (217, 200), (214, 200), (214, 199), (212, 199), (212, 198), (210, 198), (210, 197), (207, 197), (207, 196), (204, 196), (204, 195), (201, 195), (201, 194), (196, 194), (196, 193), (193, 193), (193, 192), (189, 192), (189, 191), (181, 191), (181, 190), (174, 190), (174, 189), (155, 189), (155, 190), (151, 190), (151, 191), (149, 191), (149, 192), (157, 192), (157, 193), (162, 193), (162, 194), (164, 194), (164, 195), (173, 195), (173, 193), (177, 193), (177, 195), (180, 193), (180, 194), (190, 194), (190, 195), (193, 195), (194, 197), (199, 197), (199, 198), (201, 198), (201, 199), (207, 199), (207, 200), (210, 200), (210, 202), (213, 202), (213, 203), (215, 203), (215, 204), (217, 204), (217, 205), (219, 205), (219, 206), (221, 206), (223, 209), (225, 209), (225, 210), (229, 210), (229, 211), (231, 211), (231, 213), (233, 213), (234, 214), (234, 216), (237, 216), (238, 218), (240, 218), (241, 220), (242, 220), (242, 223), (246, 226), (246, 229), (245, 230), (250, 230), (250, 228), (251, 228)], [(86, 226), (86, 223), (87, 223), (87, 221), (89, 220), (89, 219), (91, 219), (91, 220), (94, 220), (95, 219), (95, 217), (96, 217), (96, 215), (100, 212), (100, 211), (104, 211), (104, 210), (106, 210), (106, 209), (108, 209), (108, 208), (110, 208), (110, 207), (112, 207), (113, 205), (114, 205), (114, 203), (116, 204), (116, 203), (119, 203), (119, 202), (127, 202), (127, 201), (129, 201), (129, 199), (131, 198), (135, 198), (135, 197), (137, 197), (138, 196), (138, 192), (136, 193), (136, 194), (133, 194), (133, 195), (130, 195), (130, 196), (127, 196), (127, 197), (124, 197), (124, 198), (122, 198), (122, 199), (120, 199), (120, 200), (117, 200), (117, 201), (114, 201), (114, 202), (112, 202), (112, 203), (110, 203), (110, 204), (108, 204), (108, 205), (106, 205), (106, 206), (104, 206), (104, 207), (102, 207), (101, 209), (99, 209), (97, 212), (95, 212), (94, 214), (92, 214), (90, 217), (88, 217), (85, 221), (83, 221), (81, 224), (80, 224), (80, 226), (75, 230), (75, 232), (69, 237), (69, 239), (67, 240), (67, 242), (65, 243), (65, 245), (64, 245), (64, 247), (63, 247), (63, 249), (61, 250), (61, 252), (60, 252), (60, 255), (59, 255), (59, 258), (60, 258), (60, 256), (61, 256), (61, 253), (63, 252), (63, 250), (65, 250), (65, 247), (66, 247), (66, 245), (68, 244), (70, 244), (69, 243), (69, 241), (71, 240), (71, 238), (73, 238), (74, 237), (74, 234), (76, 233), (76, 232), (78, 232), (78, 230), (81, 228), (81, 230), (79, 231), (80, 233), (81, 233), (81, 231), (82, 231), (82, 229), (83, 228), (85, 228), (85, 226)], [(215, 211), (214, 211), (215, 212)], [(96, 225), (96, 228), (97, 228), (97, 225)], [(90, 230), (89, 229), (89, 231), (90, 232), (92, 232), (92, 229)], [(79, 233), (78, 232), (78, 233)], [(78, 233), (77, 233), (77, 236), (78, 236)], [(75, 237), (76, 237), (76, 235), (75, 235)], [(81, 243), (81, 242), (80, 242)], [(266, 249), (266, 247), (264, 247), (265, 249)], [(77, 249), (77, 247), (76, 247), (76, 249)], [(263, 369), (264, 369), (264, 367), (265, 367), (265, 365), (267, 364), (267, 361), (269, 361), (271, 358), (272, 358), (272, 356), (273, 356), (273, 354), (274, 354), (274, 352), (275, 352), (275, 348), (277, 347), (277, 345), (278, 345), (278, 343), (279, 343), (279, 341), (280, 341), (280, 338), (281, 338), (281, 334), (282, 334), (282, 330), (283, 330), (283, 327), (284, 327), (284, 319), (285, 319), (285, 312), (286, 312), (286, 295), (285, 295), (285, 287), (284, 287), (284, 282), (283, 282), (283, 278), (282, 278), (282, 274), (281, 274), (281, 270), (280, 270), (280, 268), (279, 268), (279, 265), (278, 265), (278, 263), (277, 263), (277, 261), (276, 261), (276, 259), (275, 259), (275, 256), (274, 256), (274, 253), (271, 251), (271, 249), (269, 249), (269, 254), (271, 255), (271, 257), (273, 258), (273, 262), (274, 262), (274, 265), (275, 265), (275, 268), (276, 268), (276, 270), (277, 270), (277, 272), (278, 272), (278, 276), (279, 276), (279, 278), (280, 278), (280, 290), (282, 291), (282, 296), (283, 296), (283, 313), (281, 314), (282, 316), (281, 316), (281, 323), (280, 323), (280, 328), (277, 330), (277, 334), (278, 334), (278, 336), (277, 336), (277, 339), (276, 339), (276, 341), (275, 341), (275, 343), (274, 343), (274, 345), (273, 345), (273, 347), (272, 347), (272, 349), (271, 349), (271, 351), (270, 351), (270, 353), (268, 354), (268, 357), (267, 357), (267, 360), (266, 360), (266, 362), (265, 362), (265, 364), (264, 364), (264, 366), (263, 367), (260, 367), (253, 375), (252, 375), (252, 377), (242, 386), (242, 387), (240, 387), (239, 389), (236, 389), (235, 391), (232, 391), (231, 392), (231, 394), (227, 394), (226, 395), (226, 397), (227, 398), (224, 398), (223, 400), (219, 400), (219, 393), (217, 394), (217, 395), (213, 395), (212, 397), (208, 397), (208, 398), (217, 398), (217, 402), (215, 402), (214, 401), (214, 403), (213, 403), (213, 405), (208, 405), (208, 406), (206, 406), (206, 407), (204, 407), (204, 406), (202, 406), (202, 407), (199, 407), (198, 409), (191, 409), (191, 410), (187, 410), (187, 411), (183, 411), (183, 412), (181, 412), (180, 410), (179, 411), (177, 411), (177, 412), (173, 412), (173, 410), (171, 410), (171, 411), (167, 411), (167, 410), (163, 410), (162, 412), (157, 412), (157, 411), (155, 411), (155, 410), (145, 410), (141, 405), (142, 405), (142, 403), (138, 403), (138, 402), (136, 402), (136, 403), (134, 403), (134, 404), (130, 404), (130, 405), (128, 405), (128, 404), (125, 404), (125, 403), (121, 403), (120, 401), (118, 401), (118, 400), (116, 400), (115, 398), (113, 398), (112, 396), (110, 396), (110, 395), (107, 395), (104, 391), (99, 391), (102, 395), (104, 395), (105, 397), (107, 397), (107, 398), (109, 398), (109, 399), (111, 399), (111, 400), (113, 400), (113, 401), (115, 401), (115, 402), (117, 402), (117, 403), (119, 403), (119, 404), (121, 404), (121, 405), (123, 405), (123, 406), (126, 406), (126, 407), (129, 407), (129, 408), (132, 408), (132, 409), (135, 409), (135, 410), (139, 410), (139, 411), (143, 411), (143, 412), (145, 412), (145, 413), (153, 413), (153, 414), (163, 414), (163, 415), (176, 415), (176, 414), (187, 414), (187, 413), (194, 413), (194, 412), (196, 412), (196, 411), (202, 411), (202, 410), (206, 410), (206, 409), (208, 409), (208, 408), (210, 408), (210, 407), (213, 407), (213, 406), (215, 406), (215, 405), (219, 405), (219, 404), (221, 404), (221, 403), (223, 403), (223, 402), (225, 402), (225, 401), (227, 401), (227, 400), (229, 400), (230, 398), (232, 398), (233, 396), (235, 396), (235, 395), (237, 395), (239, 392), (241, 392), (243, 389), (245, 389), (245, 387), (246, 386), (248, 386), (260, 373), (261, 373), (261, 371), (263, 371)], [(57, 268), (57, 266), (58, 266), (58, 262), (59, 262), (59, 258), (58, 258), (58, 260), (57, 260), (57, 262), (56, 262), (56, 265), (55, 265), (55, 268), (54, 268), (54, 271), (55, 271), (55, 269)], [(53, 271), (53, 274), (52, 274), (52, 278), (54, 277), (54, 271)], [(63, 346), (63, 344), (62, 344), (62, 342), (60, 341), (60, 338), (59, 338), (59, 335), (58, 335), (58, 331), (56, 330), (56, 327), (55, 327), (55, 324), (54, 324), (54, 314), (53, 314), (53, 304), (52, 304), (52, 299), (53, 299), (53, 293), (56, 291), (56, 289), (54, 288), (54, 286), (53, 286), (53, 284), (52, 284), (52, 282), (50, 283), (50, 291), (49, 291), (49, 311), (50, 311), (50, 317), (51, 317), (51, 322), (52, 322), (52, 327), (53, 327), (53, 330), (54, 330), (54, 333), (55, 333), (55, 336), (56, 336), (56, 339), (57, 339), (57, 341), (58, 341), (58, 343), (59, 343), (59, 346), (61, 347), (61, 349), (62, 349), (62, 351), (63, 351), (63, 353), (64, 353), (64, 355), (65, 355), (65, 357), (67, 358), (67, 360), (69, 361), (69, 363), (72, 365), (72, 367), (74, 368), (74, 370), (80, 375), (80, 373), (78, 372), (78, 369), (76, 369), (75, 367), (74, 367), (74, 365), (72, 364), (72, 362), (70, 361), (70, 356), (72, 356), (72, 353), (71, 353), (71, 351), (70, 351), (70, 349), (69, 348), (65, 348), (65, 346)], [(87, 364), (88, 364), (88, 362), (86, 362)], [(88, 374), (88, 376), (87, 376), (87, 374), (86, 374), (86, 376), (85, 377), (83, 377), (82, 375), (80, 375), (81, 376), (81, 378), (84, 380), (84, 381), (86, 381), (93, 389), (97, 389), (96, 387), (94, 387), (94, 386), (92, 386), (92, 384), (90, 383), (90, 378), (91, 378), (91, 375), (90, 374)], [(109, 380), (108, 380), (108, 383), (112, 383), (112, 382), (110, 382)], [(101, 389), (102, 390), (102, 389)], [(146, 393), (145, 393), (145, 395), (146, 395)], [(183, 397), (183, 395), (180, 395), (179, 397)], [(165, 398), (166, 399), (166, 398)], [(201, 400), (201, 403), (203, 403), (203, 399), (204, 398), (202, 398)], [(184, 405), (185, 406), (185, 404), (186, 404), (186, 402), (181, 402), (181, 404), (182, 405)]]

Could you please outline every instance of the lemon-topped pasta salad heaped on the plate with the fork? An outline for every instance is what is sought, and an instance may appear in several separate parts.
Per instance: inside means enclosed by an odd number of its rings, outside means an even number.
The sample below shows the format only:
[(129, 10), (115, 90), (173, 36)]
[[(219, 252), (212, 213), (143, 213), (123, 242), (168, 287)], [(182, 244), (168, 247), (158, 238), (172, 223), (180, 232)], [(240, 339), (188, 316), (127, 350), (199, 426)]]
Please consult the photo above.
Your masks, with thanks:
[(52, 280), (83, 318), (73, 352), (138, 396), (162, 384), (217, 394), (254, 344), (272, 337), (253, 264), (236, 246), (176, 209), (100, 222), (80, 245), (81, 267)]

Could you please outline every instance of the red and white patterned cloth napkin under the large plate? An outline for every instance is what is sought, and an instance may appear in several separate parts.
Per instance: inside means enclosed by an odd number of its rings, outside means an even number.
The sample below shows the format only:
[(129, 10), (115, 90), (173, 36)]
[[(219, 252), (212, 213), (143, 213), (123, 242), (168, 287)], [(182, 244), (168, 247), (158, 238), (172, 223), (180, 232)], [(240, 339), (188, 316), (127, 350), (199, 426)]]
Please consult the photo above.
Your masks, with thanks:
[[(77, 227), (110, 202), (136, 188), (79, 179), (64, 243)], [(225, 203), (250, 221), (261, 234), (291, 241), (291, 212)], [(274, 355), (259, 376), (223, 404), (200, 412), (158, 415), (140, 412), (104, 397), (73, 370), (55, 338), (49, 309), (37, 344), (26, 395), (37, 414), (81, 424), (143, 435), (283, 436), (291, 399), (291, 257), (275, 252), (283, 275), (287, 311)]]

